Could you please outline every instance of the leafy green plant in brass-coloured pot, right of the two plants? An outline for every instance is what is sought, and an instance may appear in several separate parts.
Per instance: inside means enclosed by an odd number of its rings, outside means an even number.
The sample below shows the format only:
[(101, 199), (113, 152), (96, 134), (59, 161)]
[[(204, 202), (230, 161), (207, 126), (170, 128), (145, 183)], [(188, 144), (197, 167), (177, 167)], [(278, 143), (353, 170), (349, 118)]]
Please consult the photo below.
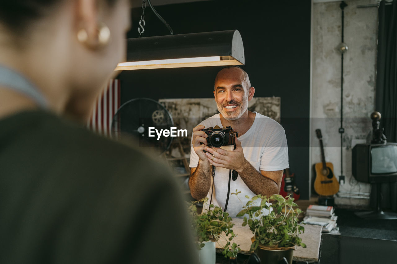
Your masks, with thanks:
[[(232, 194), (238, 198), (239, 193), (236, 190)], [(256, 250), (261, 263), (278, 263), (285, 257), (291, 264), (294, 249), (306, 247), (299, 237), (304, 232), (304, 227), (298, 225), (298, 215), (302, 210), (293, 208), (297, 204), (289, 196), (287, 199), (279, 194), (245, 197), (250, 200), (237, 216), (248, 214), (248, 218), (244, 217), (243, 226), (248, 225), (254, 234), (251, 251)], [(263, 209), (267, 209), (266, 213)]]

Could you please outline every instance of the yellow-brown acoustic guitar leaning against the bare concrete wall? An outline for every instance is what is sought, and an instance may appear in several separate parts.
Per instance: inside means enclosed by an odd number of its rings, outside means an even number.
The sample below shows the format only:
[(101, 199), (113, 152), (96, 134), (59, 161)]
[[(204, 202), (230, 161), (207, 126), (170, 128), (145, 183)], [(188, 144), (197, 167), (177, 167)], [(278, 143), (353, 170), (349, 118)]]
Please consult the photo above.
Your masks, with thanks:
[(325, 162), (324, 146), (322, 142), (321, 130), (316, 129), (317, 138), (320, 140), (321, 163), (316, 163), (316, 179), (314, 180), (314, 190), (319, 195), (334, 195), (339, 191), (339, 183), (333, 174), (333, 165)]

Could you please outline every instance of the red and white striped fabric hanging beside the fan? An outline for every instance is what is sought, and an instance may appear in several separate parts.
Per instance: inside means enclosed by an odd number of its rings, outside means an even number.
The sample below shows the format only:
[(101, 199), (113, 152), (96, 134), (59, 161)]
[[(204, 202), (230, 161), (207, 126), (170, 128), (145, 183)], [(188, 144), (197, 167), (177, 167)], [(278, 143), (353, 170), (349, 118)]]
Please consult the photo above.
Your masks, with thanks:
[(104, 136), (110, 136), (112, 119), (120, 107), (120, 80), (111, 79), (95, 101), (87, 126)]

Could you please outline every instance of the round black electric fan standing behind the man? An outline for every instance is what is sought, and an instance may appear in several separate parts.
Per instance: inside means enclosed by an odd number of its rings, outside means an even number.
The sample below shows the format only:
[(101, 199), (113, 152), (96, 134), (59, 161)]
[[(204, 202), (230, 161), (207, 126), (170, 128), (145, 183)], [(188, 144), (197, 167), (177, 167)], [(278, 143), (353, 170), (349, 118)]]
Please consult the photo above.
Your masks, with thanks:
[(172, 126), (171, 114), (163, 105), (149, 98), (135, 98), (123, 103), (114, 115), (112, 137), (133, 136), (139, 147), (161, 155), (170, 147), (173, 137), (158, 133)]

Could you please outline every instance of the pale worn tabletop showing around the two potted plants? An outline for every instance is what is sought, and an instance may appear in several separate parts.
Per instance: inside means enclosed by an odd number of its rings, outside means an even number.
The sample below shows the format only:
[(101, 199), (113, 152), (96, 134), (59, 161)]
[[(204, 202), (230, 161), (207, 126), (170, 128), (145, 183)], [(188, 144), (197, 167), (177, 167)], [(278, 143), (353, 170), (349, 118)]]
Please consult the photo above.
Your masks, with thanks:
[[(253, 237), (252, 231), (249, 230), (247, 226), (241, 226), (243, 223), (242, 218), (233, 218), (233, 231), (238, 237), (235, 237), (232, 241), (240, 245), (240, 253), (251, 254), (249, 252), (251, 248), (251, 237)], [(306, 244), (306, 248), (297, 247), (294, 251), (293, 260), (295, 261), (307, 261), (307, 262), (317, 262), (318, 252), (320, 249), (321, 242), (321, 226), (304, 225), (304, 233), (301, 234), (302, 242)], [(216, 243), (216, 251), (218, 253), (223, 251), (221, 245), (225, 245), (225, 239), (221, 238)]]

